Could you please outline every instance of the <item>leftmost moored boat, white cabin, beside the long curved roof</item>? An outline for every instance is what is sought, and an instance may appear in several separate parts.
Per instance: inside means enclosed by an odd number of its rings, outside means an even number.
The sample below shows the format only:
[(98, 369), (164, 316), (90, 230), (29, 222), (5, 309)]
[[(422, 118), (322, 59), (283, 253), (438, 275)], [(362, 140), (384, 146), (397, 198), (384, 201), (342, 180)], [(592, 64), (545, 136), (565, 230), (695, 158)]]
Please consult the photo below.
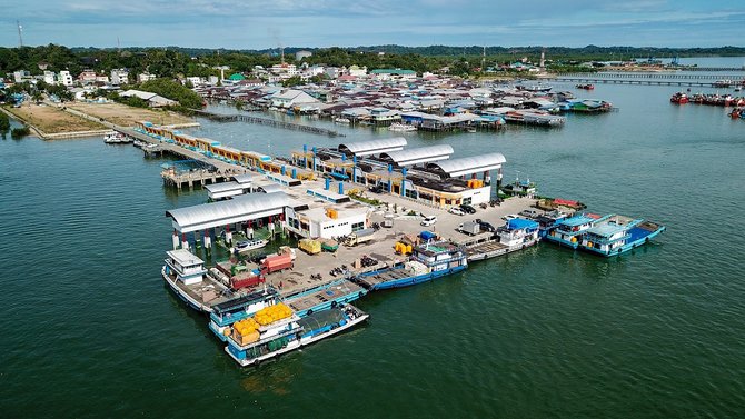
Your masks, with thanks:
[(235, 297), (226, 285), (207, 275), (205, 261), (189, 250), (169, 250), (166, 255), (161, 276), (187, 306), (197, 311), (211, 312), (212, 306)]

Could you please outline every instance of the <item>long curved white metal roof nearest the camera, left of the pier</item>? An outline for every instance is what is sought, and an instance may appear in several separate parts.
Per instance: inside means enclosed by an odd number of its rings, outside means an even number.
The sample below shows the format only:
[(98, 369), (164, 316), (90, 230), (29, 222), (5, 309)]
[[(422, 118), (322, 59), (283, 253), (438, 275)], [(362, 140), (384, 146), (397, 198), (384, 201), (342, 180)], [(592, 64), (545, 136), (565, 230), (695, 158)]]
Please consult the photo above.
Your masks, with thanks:
[(285, 192), (249, 193), (229, 201), (172, 209), (166, 211), (166, 216), (173, 219), (177, 231), (190, 232), (276, 216), (288, 206), (292, 206), (292, 201)]

